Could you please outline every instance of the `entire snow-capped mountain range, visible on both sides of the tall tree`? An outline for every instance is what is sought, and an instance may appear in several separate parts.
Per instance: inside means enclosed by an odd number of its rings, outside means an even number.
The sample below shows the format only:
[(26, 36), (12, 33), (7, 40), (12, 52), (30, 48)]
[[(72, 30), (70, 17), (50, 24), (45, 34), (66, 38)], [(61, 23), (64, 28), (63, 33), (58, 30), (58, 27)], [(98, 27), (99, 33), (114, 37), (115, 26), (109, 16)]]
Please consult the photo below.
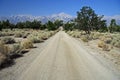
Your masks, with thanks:
[[(41, 21), (42, 23), (46, 23), (49, 20), (50, 21), (63, 20), (64, 22), (68, 22), (74, 18), (75, 16), (71, 16), (69, 14), (62, 12), (50, 16), (32, 16), (32, 15), (1, 16), (0, 21), (8, 19), (11, 23), (16, 24), (17, 22), (37, 20), (37, 21)], [(111, 19), (116, 19), (117, 24), (120, 25), (120, 15), (104, 16), (104, 19), (107, 20), (107, 25), (110, 24)]]

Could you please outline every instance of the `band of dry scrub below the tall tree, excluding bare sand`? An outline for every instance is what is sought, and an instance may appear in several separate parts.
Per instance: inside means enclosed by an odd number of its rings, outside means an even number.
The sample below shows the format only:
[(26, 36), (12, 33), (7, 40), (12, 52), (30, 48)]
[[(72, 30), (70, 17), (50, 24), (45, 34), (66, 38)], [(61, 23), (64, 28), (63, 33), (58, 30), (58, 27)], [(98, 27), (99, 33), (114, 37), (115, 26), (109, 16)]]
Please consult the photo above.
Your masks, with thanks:
[[(91, 40), (99, 40), (99, 45), (109, 44), (111, 46), (120, 48), (120, 33), (100, 33), (100, 32), (91, 32), (91, 34), (86, 34), (84, 31), (68, 31), (70, 36), (75, 38), (80, 38), (84, 42)], [(102, 47), (102, 46), (100, 46)]]

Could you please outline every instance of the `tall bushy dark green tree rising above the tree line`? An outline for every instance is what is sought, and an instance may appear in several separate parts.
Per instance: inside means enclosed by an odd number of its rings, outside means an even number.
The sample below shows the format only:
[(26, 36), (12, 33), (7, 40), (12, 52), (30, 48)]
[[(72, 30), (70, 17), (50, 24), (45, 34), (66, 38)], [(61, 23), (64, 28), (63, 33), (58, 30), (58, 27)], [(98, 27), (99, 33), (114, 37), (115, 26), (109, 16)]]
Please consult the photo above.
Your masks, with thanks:
[(78, 29), (90, 34), (92, 30), (99, 30), (106, 27), (106, 21), (102, 20), (102, 18), (103, 16), (98, 16), (91, 7), (84, 6), (77, 12), (75, 21), (79, 26)]

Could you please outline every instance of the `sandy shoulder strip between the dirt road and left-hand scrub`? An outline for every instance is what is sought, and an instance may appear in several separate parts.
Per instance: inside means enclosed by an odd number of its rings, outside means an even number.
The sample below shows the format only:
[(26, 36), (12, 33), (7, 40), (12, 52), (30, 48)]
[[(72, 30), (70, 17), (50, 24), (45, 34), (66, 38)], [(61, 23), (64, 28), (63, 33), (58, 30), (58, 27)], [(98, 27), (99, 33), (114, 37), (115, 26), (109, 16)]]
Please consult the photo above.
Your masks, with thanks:
[(40, 52), (44, 50), (46, 45), (51, 41), (51, 38), (44, 43), (35, 44), (34, 46), (37, 48), (31, 49), (28, 53), (25, 53), (23, 57), (15, 59), (14, 65), (0, 70), (0, 80), (17, 80), (36, 57), (40, 55)]

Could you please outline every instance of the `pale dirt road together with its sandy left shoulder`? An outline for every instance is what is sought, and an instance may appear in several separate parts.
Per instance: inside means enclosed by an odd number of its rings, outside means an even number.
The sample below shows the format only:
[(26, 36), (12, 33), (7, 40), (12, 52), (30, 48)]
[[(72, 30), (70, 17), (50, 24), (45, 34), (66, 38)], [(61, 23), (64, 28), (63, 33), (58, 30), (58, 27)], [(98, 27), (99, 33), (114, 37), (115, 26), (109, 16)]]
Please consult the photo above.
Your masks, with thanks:
[(0, 71), (0, 80), (120, 80), (109, 61), (63, 31), (37, 46)]

